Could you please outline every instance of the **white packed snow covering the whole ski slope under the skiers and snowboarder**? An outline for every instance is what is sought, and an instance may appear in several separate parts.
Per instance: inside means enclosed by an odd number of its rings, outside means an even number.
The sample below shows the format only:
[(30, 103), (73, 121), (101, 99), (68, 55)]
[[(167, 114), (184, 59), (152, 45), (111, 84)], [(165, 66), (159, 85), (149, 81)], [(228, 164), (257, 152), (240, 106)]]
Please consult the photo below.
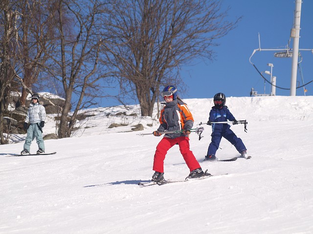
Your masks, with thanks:
[[(208, 120), (212, 98), (184, 101), (195, 128)], [(17, 143), (0, 145), (0, 234), (312, 234), (313, 96), (230, 97), (226, 105), (248, 122), (247, 133), (243, 124), (231, 129), (252, 158), (203, 162), (212, 130), (201, 125), (190, 148), (215, 176), (161, 186), (137, 185), (154, 173), (161, 137), (138, 134), (157, 129), (157, 110), (151, 118), (139, 117), (138, 105), (90, 109), (74, 137), (45, 140), (45, 151), (57, 152), (50, 156), (11, 156), (25, 138), (12, 136)], [(53, 119), (44, 134), (56, 132)], [(144, 130), (131, 131), (139, 123)], [(221, 159), (239, 156), (225, 139), (220, 148)], [(164, 170), (165, 179), (188, 176), (178, 146)]]

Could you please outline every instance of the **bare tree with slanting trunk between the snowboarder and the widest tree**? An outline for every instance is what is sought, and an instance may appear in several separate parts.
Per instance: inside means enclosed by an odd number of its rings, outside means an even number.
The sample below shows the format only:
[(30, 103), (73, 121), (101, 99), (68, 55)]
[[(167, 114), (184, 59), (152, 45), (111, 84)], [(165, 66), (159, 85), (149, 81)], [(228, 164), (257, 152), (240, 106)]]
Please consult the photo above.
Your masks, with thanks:
[[(100, 69), (98, 64), (102, 45), (98, 33), (102, 24), (99, 15), (104, 5), (103, 0), (57, 0), (60, 40), (56, 54), (50, 58), (50, 67), (53, 69), (51, 74), (62, 83), (65, 92), (60, 138), (71, 136), (79, 110), (96, 104), (94, 98), (100, 81), (107, 76), (105, 67)], [(73, 99), (77, 101), (72, 107)]]

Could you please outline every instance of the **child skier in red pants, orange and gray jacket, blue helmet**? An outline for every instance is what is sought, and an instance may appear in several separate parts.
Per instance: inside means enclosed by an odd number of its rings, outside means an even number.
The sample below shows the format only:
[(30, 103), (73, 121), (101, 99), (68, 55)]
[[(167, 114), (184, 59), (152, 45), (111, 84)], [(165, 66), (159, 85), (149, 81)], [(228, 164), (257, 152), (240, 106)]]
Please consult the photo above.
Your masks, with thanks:
[(160, 113), (160, 126), (157, 131), (153, 132), (156, 137), (166, 131), (179, 131), (174, 134), (165, 134), (156, 146), (154, 156), (152, 181), (164, 181), (164, 159), (167, 151), (174, 145), (179, 145), (179, 151), (183, 156), (189, 170), (189, 178), (206, 176), (202, 171), (199, 162), (189, 148), (189, 134), (194, 124), (194, 119), (187, 105), (177, 96), (177, 89), (173, 85), (169, 85), (161, 92), (162, 97), (166, 101), (165, 106)]

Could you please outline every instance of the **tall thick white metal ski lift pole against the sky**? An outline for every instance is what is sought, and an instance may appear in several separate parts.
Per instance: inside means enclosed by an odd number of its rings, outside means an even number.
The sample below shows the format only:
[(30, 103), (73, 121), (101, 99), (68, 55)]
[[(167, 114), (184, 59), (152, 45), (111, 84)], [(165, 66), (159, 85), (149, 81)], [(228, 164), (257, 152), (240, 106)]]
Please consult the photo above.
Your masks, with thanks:
[(300, 36), (300, 19), (301, 19), (301, 0), (295, 2), (294, 25), (291, 29), (293, 38), (292, 64), (291, 64), (291, 85), (290, 96), (296, 95), (297, 71), (298, 71), (298, 53), (299, 53), (299, 36)]

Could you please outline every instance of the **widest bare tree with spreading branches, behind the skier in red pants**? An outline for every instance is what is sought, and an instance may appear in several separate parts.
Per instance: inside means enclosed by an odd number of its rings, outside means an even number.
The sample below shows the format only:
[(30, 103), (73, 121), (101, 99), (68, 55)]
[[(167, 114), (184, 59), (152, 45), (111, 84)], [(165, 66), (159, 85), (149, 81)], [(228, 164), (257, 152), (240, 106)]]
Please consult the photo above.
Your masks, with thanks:
[(117, 0), (106, 21), (104, 46), (121, 95), (133, 92), (142, 116), (152, 117), (161, 85), (178, 84), (180, 67), (213, 59), (216, 40), (238, 20), (225, 20), (218, 0)]

